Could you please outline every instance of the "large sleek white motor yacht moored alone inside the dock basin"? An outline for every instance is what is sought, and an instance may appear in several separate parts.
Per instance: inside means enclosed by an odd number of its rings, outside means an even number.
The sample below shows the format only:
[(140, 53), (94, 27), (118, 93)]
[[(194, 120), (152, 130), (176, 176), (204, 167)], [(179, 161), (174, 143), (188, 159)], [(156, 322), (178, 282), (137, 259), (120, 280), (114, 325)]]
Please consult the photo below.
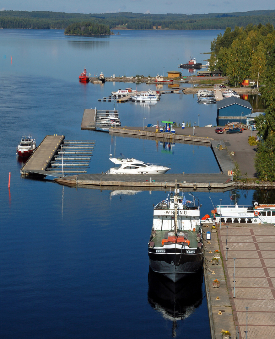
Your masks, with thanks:
[(112, 167), (106, 174), (161, 174), (169, 171), (169, 167), (153, 165), (135, 158), (109, 158), (117, 167)]

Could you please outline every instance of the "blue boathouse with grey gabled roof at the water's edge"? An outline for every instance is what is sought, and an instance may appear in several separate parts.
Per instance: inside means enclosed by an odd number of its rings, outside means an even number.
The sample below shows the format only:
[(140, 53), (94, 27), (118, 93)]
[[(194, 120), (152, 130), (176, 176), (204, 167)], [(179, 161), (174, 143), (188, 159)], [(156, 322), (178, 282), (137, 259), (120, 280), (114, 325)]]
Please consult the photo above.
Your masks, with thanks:
[(224, 98), (217, 101), (217, 122), (221, 124), (223, 119), (241, 120), (245, 115), (252, 113), (250, 102), (236, 97)]

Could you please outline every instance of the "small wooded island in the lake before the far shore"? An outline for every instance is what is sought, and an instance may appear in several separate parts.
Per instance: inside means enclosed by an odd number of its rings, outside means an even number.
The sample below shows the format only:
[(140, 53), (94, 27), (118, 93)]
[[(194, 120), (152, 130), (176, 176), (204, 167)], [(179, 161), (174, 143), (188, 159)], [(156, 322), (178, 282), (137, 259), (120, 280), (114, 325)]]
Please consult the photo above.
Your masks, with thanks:
[(97, 22), (76, 22), (69, 25), (65, 31), (65, 35), (110, 35), (109, 26), (99, 24)]

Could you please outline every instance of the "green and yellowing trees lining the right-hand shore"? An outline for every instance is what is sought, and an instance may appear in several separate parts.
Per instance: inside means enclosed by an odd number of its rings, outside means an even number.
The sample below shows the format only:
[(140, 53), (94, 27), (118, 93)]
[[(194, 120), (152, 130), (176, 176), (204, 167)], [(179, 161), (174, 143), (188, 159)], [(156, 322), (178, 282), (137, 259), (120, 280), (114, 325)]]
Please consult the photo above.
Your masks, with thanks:
[(255, 118), (259, 141), (256, 140), (255, 169), (258, 178), (275, 181), (275, 30), (271, 24), (228, 27), (211, 43), (210, 69), (222, 71), (232, 85), (243, 79), (254, 80), (260, 87), (267, 108)]

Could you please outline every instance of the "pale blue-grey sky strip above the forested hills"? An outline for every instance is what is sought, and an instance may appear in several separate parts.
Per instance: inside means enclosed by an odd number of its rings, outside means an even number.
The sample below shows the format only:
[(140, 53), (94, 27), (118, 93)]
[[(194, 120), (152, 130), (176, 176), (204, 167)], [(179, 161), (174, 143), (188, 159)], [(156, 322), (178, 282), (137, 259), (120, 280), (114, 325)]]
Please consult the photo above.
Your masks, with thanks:
[(66, 13), (229, 13), (275, 9), (274, 0), (2, 0), (4, 11), (53, 11)]

